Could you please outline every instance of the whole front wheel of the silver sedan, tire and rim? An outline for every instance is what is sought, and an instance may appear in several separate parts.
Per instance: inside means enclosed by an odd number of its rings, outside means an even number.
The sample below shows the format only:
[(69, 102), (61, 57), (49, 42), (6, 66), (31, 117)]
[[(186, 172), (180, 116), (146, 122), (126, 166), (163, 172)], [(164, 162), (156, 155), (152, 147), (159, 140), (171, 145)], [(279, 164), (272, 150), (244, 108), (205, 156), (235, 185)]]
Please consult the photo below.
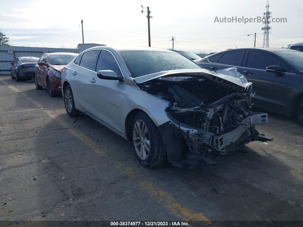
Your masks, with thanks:
[(155, 167), (167, 161), (162, 136), (155, 123), (144, 112), (135, 115), (132, 123), (132, 145), (144, 167)]

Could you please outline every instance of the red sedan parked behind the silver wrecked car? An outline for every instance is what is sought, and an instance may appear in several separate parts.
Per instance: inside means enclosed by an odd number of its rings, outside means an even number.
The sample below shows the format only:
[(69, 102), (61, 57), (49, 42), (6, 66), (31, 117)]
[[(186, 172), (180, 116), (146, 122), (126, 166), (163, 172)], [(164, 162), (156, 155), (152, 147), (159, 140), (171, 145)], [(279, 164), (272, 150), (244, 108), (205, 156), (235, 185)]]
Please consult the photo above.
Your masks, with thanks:
[(46, 53), (39, 58), (34, 68), (35, 85), (37, 90), (46, 88), (51, 97), (62, 94), (61, 72), (78, 54), (75, 53)]

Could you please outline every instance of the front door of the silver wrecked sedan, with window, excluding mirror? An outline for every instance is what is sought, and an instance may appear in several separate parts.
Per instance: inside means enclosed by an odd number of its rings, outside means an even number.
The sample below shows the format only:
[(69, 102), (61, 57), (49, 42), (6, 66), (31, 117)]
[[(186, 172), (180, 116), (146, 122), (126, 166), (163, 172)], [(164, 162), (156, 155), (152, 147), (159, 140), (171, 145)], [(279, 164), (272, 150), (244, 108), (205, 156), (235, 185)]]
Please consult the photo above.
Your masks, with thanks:
[(120, 66), (112, 52), (108, 50), (101, 50), (96, 72), (92, 74), (91, 84), (89, 86), (90, 115), (100, 122), (108, 125), (112, 129), (122, 132), (121, 121), (125, 119), (118, 119), (117, 115), (121, 110), (122, 102), (124, 100), (123, 90), (125, 88), (124, 82), (118, 80), (106, 80), (97, 77), (99, 70), (112, 70), (117, 75), (122, 75)]

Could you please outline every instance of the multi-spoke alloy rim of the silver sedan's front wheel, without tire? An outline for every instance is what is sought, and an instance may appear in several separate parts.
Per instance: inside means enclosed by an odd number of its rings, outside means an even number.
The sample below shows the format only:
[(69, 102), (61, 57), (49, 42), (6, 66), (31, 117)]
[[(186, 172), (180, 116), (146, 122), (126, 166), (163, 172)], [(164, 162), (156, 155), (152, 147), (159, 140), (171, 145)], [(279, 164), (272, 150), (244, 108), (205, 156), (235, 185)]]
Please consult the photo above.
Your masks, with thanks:
[(135, 122), (133, 128), (133, 141), (139, 158), (142, 160), (147, 159), (150, 149), (149, 133), (142, 120), (137, 120)]

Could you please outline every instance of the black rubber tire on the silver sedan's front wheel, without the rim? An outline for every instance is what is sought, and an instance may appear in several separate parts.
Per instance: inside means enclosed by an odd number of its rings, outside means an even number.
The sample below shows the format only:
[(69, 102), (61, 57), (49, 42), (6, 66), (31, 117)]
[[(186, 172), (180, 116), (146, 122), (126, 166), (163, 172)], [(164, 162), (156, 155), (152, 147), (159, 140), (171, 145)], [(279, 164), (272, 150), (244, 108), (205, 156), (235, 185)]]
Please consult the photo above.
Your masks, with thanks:
[[(138, 131), (134, 132), (134, 127), (135, 127), (135, 123), (138, 122), (138, 120), (144, 122), (144, 124), (148, 130), (149, 151), (148, 151), (148, 155), (145, 159), (141, 159), (139, 157), (139, 155), (136, 151), (136, 148), (135, 148), (134, 134), (137, 133)], [(166, 150), (165, 150), (165, 147), (163, 144), (162, 136), (161, 136), (157, 126), (155, 125), (155, 123), (150, 119), (150, 117), (146, 113), (139, 112), (135, 115), (133, 122), (132, 122), (131, 135), (132, 135), (133, 149), (134, 149), (135, 155), (136, 155), (138, 161), (141, 163), (141, 165), (143, 165), (144, 167), (151, 168), (151, 167), (156, 167), (156, 166), (162, 165), (163, 163), (167, 162), (167, 153), (166, 153)], [(141, 135), (142, 135), (142, 133), (141, 133)], [(142, 141), (141, 141), (141, 143), (142, 143)], [(142, 145), (140, 145), (140, 147), (141, 146)]]

